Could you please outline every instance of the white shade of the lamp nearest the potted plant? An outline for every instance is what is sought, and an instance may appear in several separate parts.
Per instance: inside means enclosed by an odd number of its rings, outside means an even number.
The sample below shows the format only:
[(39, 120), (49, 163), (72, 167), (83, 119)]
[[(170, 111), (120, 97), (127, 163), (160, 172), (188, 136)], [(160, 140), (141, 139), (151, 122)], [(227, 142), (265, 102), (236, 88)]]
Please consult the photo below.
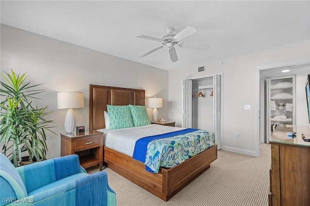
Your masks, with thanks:
[(83, 92), (58, 92), (58, 109), (84, 108)]

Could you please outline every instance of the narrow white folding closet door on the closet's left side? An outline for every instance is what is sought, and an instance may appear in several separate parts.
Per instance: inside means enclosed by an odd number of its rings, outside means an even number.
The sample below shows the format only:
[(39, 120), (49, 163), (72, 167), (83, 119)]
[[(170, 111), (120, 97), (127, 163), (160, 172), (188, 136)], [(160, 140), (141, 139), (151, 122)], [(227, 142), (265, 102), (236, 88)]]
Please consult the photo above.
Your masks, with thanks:
[(183, 122), (182, 127), (192, 127), (192, 81), (183, 80)]

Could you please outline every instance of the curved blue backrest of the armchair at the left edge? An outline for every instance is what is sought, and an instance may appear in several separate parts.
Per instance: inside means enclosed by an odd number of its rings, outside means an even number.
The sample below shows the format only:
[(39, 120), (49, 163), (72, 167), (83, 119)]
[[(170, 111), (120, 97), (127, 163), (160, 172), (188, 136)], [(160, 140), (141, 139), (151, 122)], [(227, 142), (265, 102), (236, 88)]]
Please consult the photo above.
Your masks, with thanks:
[[(23, 180), (21, 179), (12, 162), (3, 154), (0, 154), (0, 178), (1, 198), (12, 197), (18, 199), (27, 197), (27, 190)], [(3, 203), (1, 201), (1, 206), (6, 205), (7, 203), (8, 202)]]

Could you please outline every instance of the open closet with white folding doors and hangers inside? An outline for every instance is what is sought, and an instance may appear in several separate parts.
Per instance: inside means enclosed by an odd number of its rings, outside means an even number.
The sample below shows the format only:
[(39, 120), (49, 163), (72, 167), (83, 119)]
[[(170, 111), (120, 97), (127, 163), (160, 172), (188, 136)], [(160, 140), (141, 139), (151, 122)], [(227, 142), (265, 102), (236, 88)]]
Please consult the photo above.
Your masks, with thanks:
[(213, 74), (183, 80), (182, 127), (215, 133), (217, 149), (223, 134), (223, 74)]

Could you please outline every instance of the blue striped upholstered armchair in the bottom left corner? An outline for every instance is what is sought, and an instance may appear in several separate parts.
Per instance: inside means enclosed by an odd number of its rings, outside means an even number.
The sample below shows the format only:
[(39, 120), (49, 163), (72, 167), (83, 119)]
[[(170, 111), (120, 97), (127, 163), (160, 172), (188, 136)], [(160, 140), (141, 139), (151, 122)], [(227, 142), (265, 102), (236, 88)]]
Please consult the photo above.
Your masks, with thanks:
[(78, 155), (15, 168), (0, 154), (0, 205), (115, 206), (107, 173), (88, 175)]

